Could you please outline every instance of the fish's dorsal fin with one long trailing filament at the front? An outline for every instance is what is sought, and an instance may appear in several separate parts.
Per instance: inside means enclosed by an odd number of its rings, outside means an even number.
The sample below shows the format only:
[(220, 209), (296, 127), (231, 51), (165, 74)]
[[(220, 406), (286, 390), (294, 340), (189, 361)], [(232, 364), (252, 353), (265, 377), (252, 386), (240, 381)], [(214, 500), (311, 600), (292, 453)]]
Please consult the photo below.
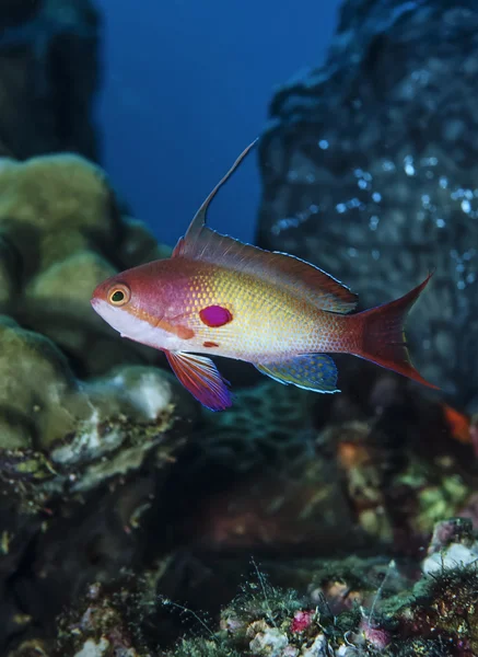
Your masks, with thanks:
[(177, 242), (172, 257), (187, 257), (209, 262), (228, 269), (252, 274), (289, 289), (296, 297), (322, 310), (350, 312), (357, 306), (357, 296), (333, 276), (293, 255), (265, 251), (223, 235), (206, 226), (208, 208), (219, 189), (231, 177), (247, 153), (253, 141), (237, 158), (223, 178), (215, 185), (196, 212), (186, 234)]

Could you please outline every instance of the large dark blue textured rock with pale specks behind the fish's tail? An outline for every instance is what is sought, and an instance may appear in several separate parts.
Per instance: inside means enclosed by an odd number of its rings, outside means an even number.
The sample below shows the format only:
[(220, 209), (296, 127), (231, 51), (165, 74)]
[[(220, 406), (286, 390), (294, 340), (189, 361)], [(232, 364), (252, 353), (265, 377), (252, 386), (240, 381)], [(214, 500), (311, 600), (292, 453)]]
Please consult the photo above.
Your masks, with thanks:
[(362, 307), (435, 275), (410, 318), (422, 373), (478, 410), (478, 11), (349, 0), (323, 69), (283, 87), (260, 147), (258, 243)]

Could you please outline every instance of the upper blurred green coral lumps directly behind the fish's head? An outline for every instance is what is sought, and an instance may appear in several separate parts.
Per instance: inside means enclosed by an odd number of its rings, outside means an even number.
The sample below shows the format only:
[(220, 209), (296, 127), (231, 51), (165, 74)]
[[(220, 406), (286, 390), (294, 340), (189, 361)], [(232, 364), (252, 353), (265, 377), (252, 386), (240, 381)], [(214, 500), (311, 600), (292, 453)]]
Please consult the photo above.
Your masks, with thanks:
[(91, 312), (98, 280), (167, 253), (144, 224), (121, 217), (100, 168), (73, 154), (3, 159), (0, 230), (2, 312), (50, 337), (84, 374), (156, 357)]

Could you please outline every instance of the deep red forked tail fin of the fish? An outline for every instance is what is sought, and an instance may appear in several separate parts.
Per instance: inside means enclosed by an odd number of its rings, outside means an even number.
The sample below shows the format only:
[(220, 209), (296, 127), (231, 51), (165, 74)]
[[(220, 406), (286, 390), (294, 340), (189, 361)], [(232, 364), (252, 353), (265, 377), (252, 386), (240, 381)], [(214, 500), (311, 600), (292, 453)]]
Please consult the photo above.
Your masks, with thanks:
[(355, 356), (436, 389), (436, 385), (423, 379), (412, 366), (404, 331), (407, 313), (425, 288), (431, 276), (432, 273), (404, 297), (359, 312), (349, 319), (357, 322), (358, 334), (355, 333), (355, 336), (359, 353), (354, 353)]

